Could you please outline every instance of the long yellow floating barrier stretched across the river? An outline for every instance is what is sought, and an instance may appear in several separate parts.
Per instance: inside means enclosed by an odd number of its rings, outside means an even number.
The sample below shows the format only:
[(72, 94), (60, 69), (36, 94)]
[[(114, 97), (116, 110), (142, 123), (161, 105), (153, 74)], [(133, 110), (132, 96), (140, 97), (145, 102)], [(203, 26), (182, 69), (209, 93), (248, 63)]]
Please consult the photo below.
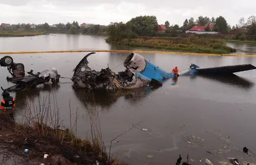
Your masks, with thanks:
[(136, 53), (158, 53), (158, 54), (184, 54), (191, 56), (234, 56), (234, 57), (256, 57), (256, 54), (207, 54), (191, 52), (165, 52), (165, 51), (127, 51), (127, 50), (76, 50), (76, 51), (22, 51), (22, 52), (0, 52), (0, 54), (33, 54), (33, 53), (61, 53), (61, 52), (136, 52)]

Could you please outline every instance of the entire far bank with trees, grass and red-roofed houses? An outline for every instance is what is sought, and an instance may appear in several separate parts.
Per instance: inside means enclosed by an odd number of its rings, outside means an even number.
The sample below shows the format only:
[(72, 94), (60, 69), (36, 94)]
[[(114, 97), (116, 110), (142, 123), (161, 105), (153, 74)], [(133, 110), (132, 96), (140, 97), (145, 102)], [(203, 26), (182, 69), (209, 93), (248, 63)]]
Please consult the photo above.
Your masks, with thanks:
[(225, 54), (236, 52), (226, 42), (256, 43), (256, 16), (239, 19), (236, 26), (220, 17), (200, 16), (184, 20), (182, 26), (170, 25), (166, 21), (159, 24), (156, 16), (145, 15), (132, 18), (128, 22), (100, 24), (80, 24), (77, 21), (67, 24), (17, 24), (2, 23), (0, 36), (35, 36), (49, 33), (80, 35), (105, 35), (106, 42), (130, 47), (148, 47), (180, 52), (201, 52)]

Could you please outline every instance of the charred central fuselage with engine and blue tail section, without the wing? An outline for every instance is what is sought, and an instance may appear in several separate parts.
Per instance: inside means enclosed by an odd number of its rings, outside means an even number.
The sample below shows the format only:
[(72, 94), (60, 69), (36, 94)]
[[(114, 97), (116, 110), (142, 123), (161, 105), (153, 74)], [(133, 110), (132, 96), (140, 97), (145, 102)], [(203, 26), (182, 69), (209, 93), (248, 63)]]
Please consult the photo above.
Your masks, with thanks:
[(91, 52), (84, 56), (74, 69), (72, 81), (75, 88), (88, 88), (106, 90), (132, 89), (144, 86), (162, 86), (164, 79), (169, 79), (174, 74), (164, 72), (161, 68), (139, 54), (131, 53), (124, 61), (124, 72), (115, 74), (110, 68), (102, 69), (100, 72), (88, 67), (88, 56), (95, 54)]

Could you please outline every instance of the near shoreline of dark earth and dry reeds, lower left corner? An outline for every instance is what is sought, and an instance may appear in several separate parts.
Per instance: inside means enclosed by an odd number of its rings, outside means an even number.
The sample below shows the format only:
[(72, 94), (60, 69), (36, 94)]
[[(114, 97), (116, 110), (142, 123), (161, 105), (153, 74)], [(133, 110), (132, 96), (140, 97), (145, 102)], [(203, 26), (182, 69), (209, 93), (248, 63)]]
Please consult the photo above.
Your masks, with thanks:
[[(77, 112), (75, 121), (70, 121), (70, 129), (60, 129), (59, 109), (51, 109), (50, 106), (44, 105), (39, 105), (39, 107), (42, 107), (40, 111), (44, 116), (38, 116), (36, 109), (32, 110), (27, 107), (25, 113), (22, 114), (24, 118), (22, 117), (22, 122), (19, 123), (10, 115), (0, 113), (0, 145), (2, 152), (10, 153), (7, 155), (8, 159), (13, 159), (13, 161), (19, 159), (18, 161), (36, 162), (37, 164), (53, 162), (67, 165), (95, 164), (95, 162), (106, 165), (125, 164), (109, 156), (110, 152), (106, 151), (99, 128), (95, 128), (98, 123), (91, 121), (93, 125), (91, 139), (80, 139), (76, 137)], [(14, 113), (19, 114), (18, 111)], [(28, 149), (28, 152), (24, 152), (25, 149)], [(47, 159), (44, 159), (45, 154), (49, 155)]]

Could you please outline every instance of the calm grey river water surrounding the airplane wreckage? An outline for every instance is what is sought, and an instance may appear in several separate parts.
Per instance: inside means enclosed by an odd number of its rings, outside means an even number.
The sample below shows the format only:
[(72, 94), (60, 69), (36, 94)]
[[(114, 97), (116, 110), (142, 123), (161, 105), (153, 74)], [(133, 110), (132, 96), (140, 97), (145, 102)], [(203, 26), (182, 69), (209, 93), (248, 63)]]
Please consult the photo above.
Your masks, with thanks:
[[(0, 38), (0, 51), (57, 51), (57, 50), (103, 50), (122, 49), (104, 41), (105, 36), (90, 35), (45, 35), (33, 37)], [(243, 47), (243, 43), (228, 43)], [(245, 46), (246, 47), (246, 46)], [(256, 45), (247, 45), (256, 51)], [(131, 48), (130, 48), (131, 49)], [(237, 54), (237, 53), (236, 53)], [(86, 53), (12, 54), (16, 63), (23, 63), (26, 71), (40, 72), (56, 67), (63, 77), (72, 77), (72, 70)], [(173, 67), (184, 70), (191, 63), (200, 67), (218, 67), (251, 63), (252, 57), (208, 57), (181, 54), (141, 54), (166, 71)], [(1, 55), (3, 57), (4, 55)], [(95, 70), (113, 68), (124, 70), (122, 63), (127, 53), (98, 52), (88, 58)], [(7, 88), (8, 71), (1, 68), (1, 86)], [(59, 86), (51, 85), (37, 90), (13, 92), (17, 100), (15, 118), (32, 103), (38, 106), (38, 97), (56, 95), (60, 118), (65, 127), (70, 127), (69, 102), (72, 115), (79, 114), (77, 136), (90, 136), (88, 111), (98, 111), (102, 137), (109, 148), (114, 139), (132, 125), (140, 123), (117, 138), (112, 145), (112, 154), (129, 164), (173, 164), (182, 155), (186, 161), (189, 152), (191, 164), (203, 164), (207, 158), (212, 163), (227, 161), (227, 157), (249, 160), (243, 154), (247, 146), (256, 151), (254, 132), (256, 125), (255, 97), (256, 71), (237, 74), (237, 77), (179, 77), (177, 84), (167, 81), (161, 88), (134, 90), (122, 93), (95, 92), (72, 89), (69, 79), (61, 79)], [(51, 102), (54, 102), (53, 98)], [(92, 109), (95, 103), (97, 109)], [(53, 104), (53, 103), (51, 103)], [(74, 119), (74, 118), (72, 118)], [(74, 120), (72, 121), (72, 124)], [(147, 129), (147, 130), (142, 130)], [(118, 141), (119, 143), (116, 143)], [(207, 153), (207, 151), (211, 153)], [(190, 160), (191, 159), (191, 160)], [(203, 162), (200, 162), (202, 160)]]

